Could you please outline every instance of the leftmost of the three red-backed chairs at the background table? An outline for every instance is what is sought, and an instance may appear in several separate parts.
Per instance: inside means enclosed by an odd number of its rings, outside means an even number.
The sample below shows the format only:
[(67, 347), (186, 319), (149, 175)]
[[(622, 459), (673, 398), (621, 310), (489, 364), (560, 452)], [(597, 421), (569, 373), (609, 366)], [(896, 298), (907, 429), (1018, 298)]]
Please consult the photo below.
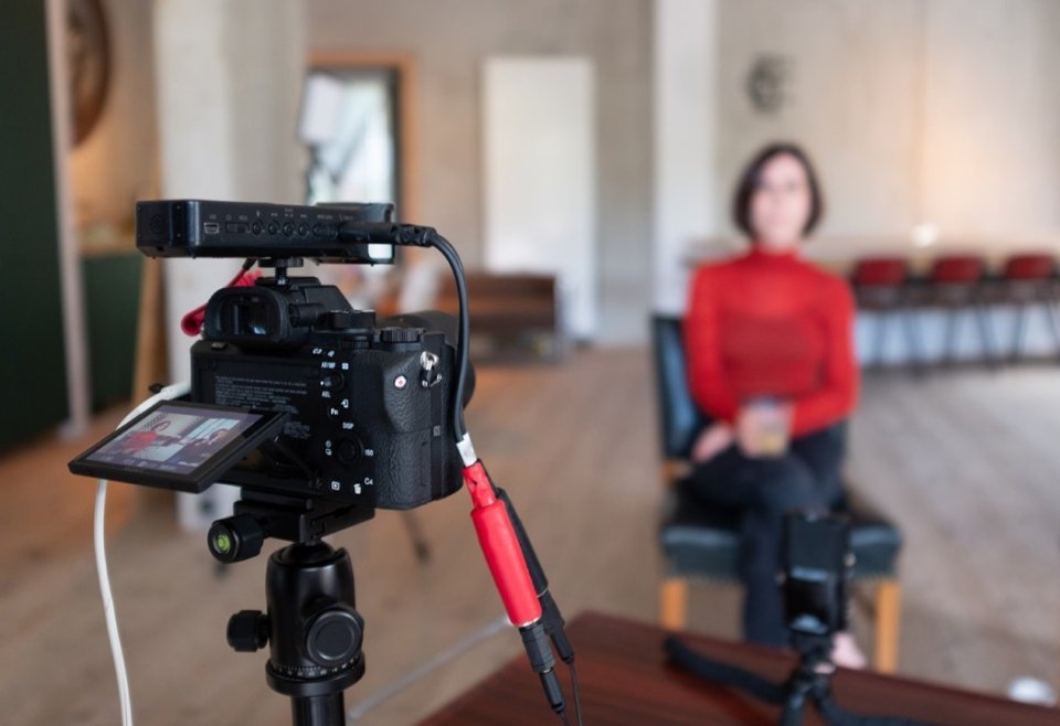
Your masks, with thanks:
[(888, 320), (897, 313), (905, 332), (905, 348), (911, 363), (920, 361), (920, 334), (916, 320), (908, 310), (909, 264), (901, 257), (859, 259), (850, 273), (850, 285), (859, 310), (876, 316), (872, 340), (872, 363), (882, 365)]

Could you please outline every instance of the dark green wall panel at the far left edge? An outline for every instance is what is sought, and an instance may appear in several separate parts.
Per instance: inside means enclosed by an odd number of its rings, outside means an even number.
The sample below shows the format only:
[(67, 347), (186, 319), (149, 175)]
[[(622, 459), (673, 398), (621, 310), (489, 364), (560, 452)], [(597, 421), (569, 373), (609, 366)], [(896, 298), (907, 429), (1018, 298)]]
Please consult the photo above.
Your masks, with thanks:
[(67, 416), (45, 31), (0, 2), (0, 449)]

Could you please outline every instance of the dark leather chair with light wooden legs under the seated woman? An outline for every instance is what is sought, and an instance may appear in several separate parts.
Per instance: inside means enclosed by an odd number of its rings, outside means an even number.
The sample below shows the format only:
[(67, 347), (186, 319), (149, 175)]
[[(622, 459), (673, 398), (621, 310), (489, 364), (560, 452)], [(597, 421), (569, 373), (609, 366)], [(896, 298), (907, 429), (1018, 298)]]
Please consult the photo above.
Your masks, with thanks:
[[(658, 391), (662, 479), (668, 485), (688, 468), (688, 452), (706, 418), (688, 388), (681, 320), (655, 316), (651, 320)], [(844, 506), (851, 520), (856, 557), (854, 578), (876, 583), (873, 668), (891, 673), (898, 665), (901, 588), (895, 574), (901, 534), (881, 516), (852, 498)], [(666, 575), (659, 590), (659, 621), (669, 630), (686, 627), (689, 584), (693, 578), (739, 581), (739, 523), (735, 515), (708, 510), (682, 499), (668, 487), (659, 544)]]

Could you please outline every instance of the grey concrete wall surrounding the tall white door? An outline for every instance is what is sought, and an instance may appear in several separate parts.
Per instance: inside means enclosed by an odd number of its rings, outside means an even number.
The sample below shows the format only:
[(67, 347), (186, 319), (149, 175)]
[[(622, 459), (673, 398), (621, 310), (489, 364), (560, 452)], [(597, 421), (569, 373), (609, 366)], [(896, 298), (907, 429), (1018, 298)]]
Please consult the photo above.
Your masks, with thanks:
[(416, 56), (422, 221), (453, 239), (470, 268), (483, 261), (483, 61), (590, 57), (600, 150), (598, 340), (644, 339), (651, 238), (649, 0), (307, 0), (306, 7), (310, 50)]

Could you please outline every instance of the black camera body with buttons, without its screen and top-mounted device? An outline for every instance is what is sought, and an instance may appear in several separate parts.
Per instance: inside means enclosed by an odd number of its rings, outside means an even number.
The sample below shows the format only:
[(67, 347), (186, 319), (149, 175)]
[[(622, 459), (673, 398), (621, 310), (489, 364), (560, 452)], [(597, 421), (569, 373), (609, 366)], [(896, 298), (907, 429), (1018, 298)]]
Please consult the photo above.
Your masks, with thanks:
[(287, 414), (224, 482), (394, 510), (458, 490), (443, 317), (378, 322), (311, 277), (215, 292), (191, 350), (192, 401)]

